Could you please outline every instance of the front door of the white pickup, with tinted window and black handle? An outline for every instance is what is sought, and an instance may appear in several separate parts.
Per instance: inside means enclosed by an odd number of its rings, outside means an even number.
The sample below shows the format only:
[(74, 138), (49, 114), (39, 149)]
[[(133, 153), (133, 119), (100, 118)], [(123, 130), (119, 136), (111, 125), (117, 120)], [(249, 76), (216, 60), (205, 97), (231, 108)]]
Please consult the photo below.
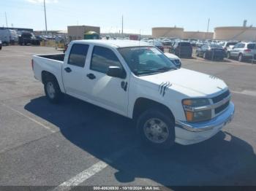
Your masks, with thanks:
[(117, 53), (117, 50), (108, 47), (94, 46), (91, 63), (86, 69), (85, 82), (94, 104), (127, 115), (129, 75), (126, 79), (107, 75), (109, 66), (119, 66), (124, 69), (120, 61), (121, 56)]

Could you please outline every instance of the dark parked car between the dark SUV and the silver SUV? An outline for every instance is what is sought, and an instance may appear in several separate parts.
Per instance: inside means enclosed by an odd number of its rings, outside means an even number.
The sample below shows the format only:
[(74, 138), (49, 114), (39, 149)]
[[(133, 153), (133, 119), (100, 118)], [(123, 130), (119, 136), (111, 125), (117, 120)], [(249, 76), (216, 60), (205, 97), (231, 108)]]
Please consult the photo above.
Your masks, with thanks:
[(203, 44), (202, 47), (197, 48), (195, 55), (203, 57), (204, 59), (222, 61), (226, 53), (224, 48), (219, 44)]

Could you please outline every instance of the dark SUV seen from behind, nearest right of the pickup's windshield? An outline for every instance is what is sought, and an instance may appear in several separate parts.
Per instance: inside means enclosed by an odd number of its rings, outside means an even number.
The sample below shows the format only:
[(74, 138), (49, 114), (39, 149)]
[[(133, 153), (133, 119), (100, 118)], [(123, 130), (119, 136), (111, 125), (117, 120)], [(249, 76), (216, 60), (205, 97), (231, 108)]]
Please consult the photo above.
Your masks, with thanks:
[(178, 55), (179, 58), (186, 57), (191, 58), (192, 57), (192, 45), (190, 42), (176, 42), (171, 52), (175, 55)]

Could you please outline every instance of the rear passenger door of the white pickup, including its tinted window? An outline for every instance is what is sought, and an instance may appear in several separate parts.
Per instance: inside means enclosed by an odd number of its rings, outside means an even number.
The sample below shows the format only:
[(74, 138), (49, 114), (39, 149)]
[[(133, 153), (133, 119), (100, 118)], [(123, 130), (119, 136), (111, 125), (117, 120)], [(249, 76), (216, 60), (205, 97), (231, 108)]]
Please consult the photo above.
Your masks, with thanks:
[[(86, 98), (85, 65), (89, 44), (72, 44), (69, 56), (65, 58), (62, 78), (66, 93), (77, 98)], [(68, 52), (67, 52), (68, 53)]]

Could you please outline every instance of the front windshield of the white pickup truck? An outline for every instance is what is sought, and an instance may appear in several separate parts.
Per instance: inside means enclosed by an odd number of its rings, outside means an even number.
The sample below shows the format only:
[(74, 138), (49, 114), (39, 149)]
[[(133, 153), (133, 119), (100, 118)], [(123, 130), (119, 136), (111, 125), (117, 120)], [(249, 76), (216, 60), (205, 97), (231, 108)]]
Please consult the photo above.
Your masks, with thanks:
[(156, 47), (124, 47), (118, 51), (137, 76), (176, 69), (174, 63)]

